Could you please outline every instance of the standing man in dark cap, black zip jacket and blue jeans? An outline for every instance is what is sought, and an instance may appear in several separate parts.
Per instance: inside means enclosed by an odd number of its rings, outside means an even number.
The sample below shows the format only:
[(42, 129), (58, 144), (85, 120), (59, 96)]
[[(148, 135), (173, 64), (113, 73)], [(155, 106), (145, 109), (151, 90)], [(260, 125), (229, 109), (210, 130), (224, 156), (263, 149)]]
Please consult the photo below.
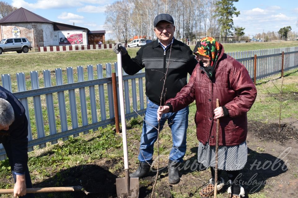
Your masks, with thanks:
[[(189, 46), (174, 39), (174, 19), (169, 14), (157, 15), (154, 19), (154, 32), (158, 40), (150, 42), (138, 50), (131, 58), (122, 44), (116, 43), (115, 53), (122, 53), (124, 71), (133, 75), (145, 67), (147, 109), (144, 117), (138, 169), (131, 177), (145, 177), (150, 172), (154, 143), (157, 140), (157, 109), (187, 84), (187, 73), (192, 74), (196, 59)], [(165, 86), (164, 85), (165, 82)], [(183, 162), (186, 151), (186, 130), (188, 107), (177, 113), (164, 114), (160, 120), (162, 129), (168, 121), (172, 131), (173, 147), (169, 155), (169, 183), (178, 183), (177, 165)]]

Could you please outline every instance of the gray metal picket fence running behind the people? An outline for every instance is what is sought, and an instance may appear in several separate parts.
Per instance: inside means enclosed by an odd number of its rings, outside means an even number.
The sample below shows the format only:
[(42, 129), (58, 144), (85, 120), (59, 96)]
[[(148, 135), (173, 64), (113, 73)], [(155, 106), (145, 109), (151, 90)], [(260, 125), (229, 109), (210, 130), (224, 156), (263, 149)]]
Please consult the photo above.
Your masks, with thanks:
[[(245, 65), (252, 79), (255, 54), (257, 80), (281, 73), (282, 61), (284, 71), (298, 68), (298, 47), (228, 54)], [(118, 76), (117, 62), (114, 66)], [(30, 80), (26, 80), (28, 77), (24, 73), (17, 73), (16, 84), (12, 84), (10, 74), (1, 75), (2, 86), (13, 92), (25, 107), (29, 121), (29, 151), (36, 145), (43, 148), (48, 142), (56, 144), (59, 139), (67, 140), (69, 136), (77, 137), (81, 132), (87, 134), (90, 130), (95, 131), (98, 127), (115, 123), (111, 63), (106, 63), (105, 73), (103, 69), (102, 64), (97, 64), (96, 67), (88, 65), (86, 69), (78, 66), (75, 70), (73, 67), (67, 67), (64, 71), (61, 68), (56, 68), (54, 72), (44, 70), (42, 75), (37, 71), (31, 71)], [(144, 94), (144, 77), (144, 69), (135, 75), (127, 75), (124, 72), (127, 119), (145, 113), (145, 103), (148, 99)], [(30, 84), (31, 89), (27, 84)], [(117, 94), (119, 95), (119, 87)], [(0, 160), (5, 158), (5, 150), (0, 144)]]

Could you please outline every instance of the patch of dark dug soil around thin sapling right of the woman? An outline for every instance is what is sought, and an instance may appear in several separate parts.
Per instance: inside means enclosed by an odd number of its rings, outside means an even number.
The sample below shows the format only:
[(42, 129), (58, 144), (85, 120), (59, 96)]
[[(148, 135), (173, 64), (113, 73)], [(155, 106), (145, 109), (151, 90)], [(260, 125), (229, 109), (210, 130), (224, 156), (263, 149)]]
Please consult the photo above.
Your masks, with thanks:
[(251, 134), (266, 141), (279, 141), (285, 143), (289, 139), (298, 139), (298, 129), (291, 124), (281, 124), (279, 128), (278, 123), (261, 123), (256, 121), (250, 121), (248, 123), (248, 131)]

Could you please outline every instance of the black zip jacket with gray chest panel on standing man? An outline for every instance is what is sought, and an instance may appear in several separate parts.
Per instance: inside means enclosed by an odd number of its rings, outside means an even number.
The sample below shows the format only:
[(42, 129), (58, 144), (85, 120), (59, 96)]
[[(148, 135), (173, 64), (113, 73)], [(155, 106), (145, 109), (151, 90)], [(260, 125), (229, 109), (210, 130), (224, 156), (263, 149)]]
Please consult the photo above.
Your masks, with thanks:
[(142, 46), (135, 58), (130, 58), (129, 54), (122, 56), (122, 67), (129, 75), (136, 74), (145, 67), (146, 95), (157, 105), (160, 105), (165, 73), (166, 94), (161, 101), (162, 105), (164, 101), (175, 97), (187, 84), (187, 73), (192, 74), (196, 64), (197, 60), (189, 46), (176, 39), (172, 47), (169, 46), (166, 51), (156, 40)]

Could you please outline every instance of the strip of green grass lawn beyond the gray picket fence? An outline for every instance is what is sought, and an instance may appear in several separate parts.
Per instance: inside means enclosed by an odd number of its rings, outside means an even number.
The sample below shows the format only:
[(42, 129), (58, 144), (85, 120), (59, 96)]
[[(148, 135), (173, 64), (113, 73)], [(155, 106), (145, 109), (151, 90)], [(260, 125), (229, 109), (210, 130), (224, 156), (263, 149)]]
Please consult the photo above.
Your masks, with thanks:
[[(254, 49), (269, 49), (298, 46), (298, 41), (284, 42), (264, 42), (264, 43), (234, 43), (224, 44), (226, 52), (245, 51)], [(191, 49), (194, 46), (190, 46)], [(131, 57), (134, 57), (139, 48), (127, 48)], [(44, 69), (54, 70), (55, 68), (77, 67), (79, 65), (96, 66), (96, 64), (117, 62), (117, 56), (112, 49), (98, 49), (86, 51), (69, 52), (45, 52), (28, 54), (1, 54), (0, 55), (0, 74), (15, 75), (18, 72), (43, 71)]]

